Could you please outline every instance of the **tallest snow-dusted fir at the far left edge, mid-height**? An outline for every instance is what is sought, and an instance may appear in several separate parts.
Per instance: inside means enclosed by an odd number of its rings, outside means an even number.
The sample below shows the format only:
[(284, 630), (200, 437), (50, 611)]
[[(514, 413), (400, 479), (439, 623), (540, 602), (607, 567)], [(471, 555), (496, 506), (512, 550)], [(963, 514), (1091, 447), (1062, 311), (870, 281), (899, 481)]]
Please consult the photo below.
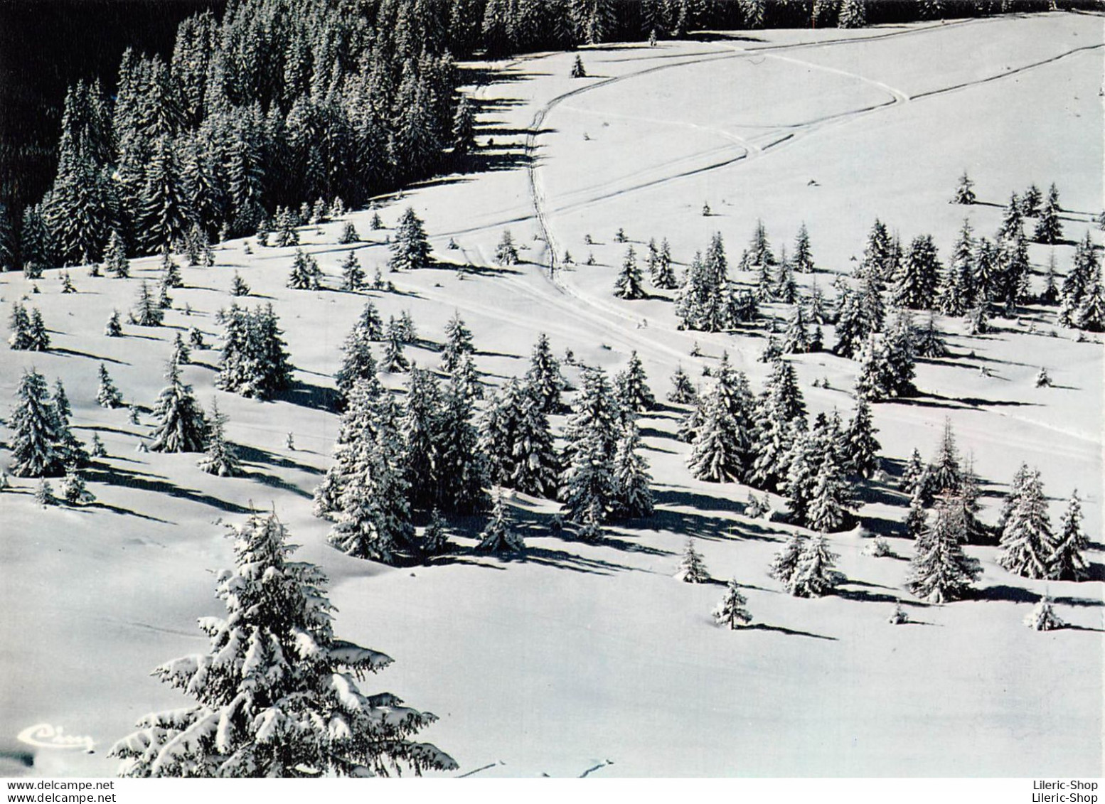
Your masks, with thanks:
[(39, 372), (24, 370), (15, 390), (18, 400), (9, 419), (11, 474), (17, 477), (53, 477), (64, 467), (62, 433), (50, 400), (46, 380)]

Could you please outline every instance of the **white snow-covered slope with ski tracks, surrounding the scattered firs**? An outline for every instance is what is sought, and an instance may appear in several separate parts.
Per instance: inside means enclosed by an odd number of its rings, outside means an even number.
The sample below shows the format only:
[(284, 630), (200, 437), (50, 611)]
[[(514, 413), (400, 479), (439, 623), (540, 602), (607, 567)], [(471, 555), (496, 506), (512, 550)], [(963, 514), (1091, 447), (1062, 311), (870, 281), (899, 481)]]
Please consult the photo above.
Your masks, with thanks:
[[(103, 325), (133, 304), (143, 278), (156, 282), (158, 260), (138, 261), (126, 281), (75, 268), (76, 295), (60, 293), (57, 271), (38, 282), (39, 295), (22, 276), (0, 275), (4, 318), (27, 295), (54, 346), (0, 351), (0, 398), (12, 399), (25, 367), (62, 378), (76, 434), (98, 433), (112, 456), (88, 473), (93, 506), (42, 510), (35, 480), (0, 495), (0, 773), (113, 773), (106, 748), (140, 715), (182, 704), (148, 673), (206, 646), (196, 618), (220, 613), (212, 571), (231, 562), (220, 522), (255, 507), (274, 508), (303, 546), (298, 557), (332, 579), (337, 633), (396, 658), (366, 688), (441, 716), (424, 737), (461, 773), (578, 775), (610, 763), (592, 775), (1101, 775), (1102, 348), (1075, 342), (1052, 311), (998, 319), (982, 337), (940, 319), (953, 358), (920, 363), (919, 399), (877, 404), (874, 415), (883, 455), (897, 462), (915, 446), (929, 457), (949, 416), (982, 478), (988, 521), (1021, 461), (1040, 468), (1056, 520), (1077, 487), (1094, 541), (1090, 582), (1028, 581), (1002, 570), (996, 549), (968, 548), (985, 569), (975, 599), (912, 601), (903, 581), (913, 547), (896, 526), (907, 500), (880, 487), (861, 516), (896, 557), (862, 554), (864, 533), (834, 535), (842, 592), (790, 597), (766, 576), (789, 526), (741, 516), (744, 487), (691, 478), (673, 409), (641, 422), (655, 517), (611, 528), (600, 544), (549, 536), (541, 515), (556, 506), (519, 497), (516, 515), (533, 525), (524, 560), (462, 550), (397, 570), (329, 548), (311, 494), (337, 430), (322, 390), (366, 295), (385, 319), (409, 309), (431, 340), (457, 310), (492, 384), (520, 374), (547, 332), (558, 353), (570, 348), (611, 370), (638, 350), (657, 395), (677, 363), (697, 377), (723, 350), (758, 390), (761, 331), (677, 331), (667, 300), (612, 297), (619, 228), (639, 254), (666, 236), (682, 268), (715, 231), (734, 264), (757, 218), (777, 251), (792, 247), (804, 221), (819, 266), (851, 273), (875, 216), (906, 241), (932, 233), (946, 255), (965, 214), (991, 235), (1010, 192), (1054, 181), (1070, 210), (1065, 234), (1081, 237), (1103, 207), (1102, 43), (1101, 18), (1056, 13), (586, 50), (585, 80), (568, 77), (573, 54), (518, 59), (471, 87), (480, 144), (494, 140), (483, 151), (492, 169), (430, 182), (380, 210), (392, 225), (412, 205), (445, 262), (491, 266), (511, 229), (525, 246), (515, 269), (389, 275), (398, 294), (298, 292), (284, 287), (293, 248), (246, 255), (238, 241), (217, 252), (215, 267), (182, 269), (166, 327), (127, 326), (125, 338), (103, 336)], [(982, 203), (950, 205), (965, 168)], [(348, 216), (366, 241), (356, 246), (336, 245), (340, 222), (302, 231), (330, 286), (349, 248), (370, 273), (386, 262), (388, 231), (371, 231), (370, 215)], [(450, 237), (459, 250), (445, 247)], [(577, 264), (550, 276), (546, 240), (558, 264), (565, 250)], [(1055, 252), (1065, 272), (1073, 247)], [(589, 253), (597, 265), (581, 264)], [(1042, 269), (1048, 250), (1033, 245), (1031, 256)], [(204, 403), (218, 398), (250, 470), (222, 479), (200, 472), (194, 455), (136, 452), (149, 416), (133, 425), (125, 410), (99, 408), (96, 369), (105, 362), (125, 399), (149, 406), (177, 331), (197, 326), (217, 340), (214, 313), (231, 302), (234, 271), (253, 288), (246, 302), (271, 302), (280, 316), (297, 387), (271, 403), (217, 392), (218, 352), (193, 353), (185, 379)], [(825, 292), (831, 279), (817, 275)], [(688, 355), (695, 341), (703, 358)], [(408, 353), (438, 363), (433, 351)], [(856, 363), (794, 362), (811, 411), (850, 414)], [(1040, 367), (1055, 387), (1034, 388)], [(811, 387), (820, 378), (828, 389)], [(688, 536), (717, 583), (672, 579)], [(757, 627), (713, 624), (729, 578)], [(1075, 627), (1021, 624), (1045, 589)], [(915, 623), (886, 622), (896, 597)], [(96, 751), (18, 742), (35, 723), (91, 736)], [(24, 751), (33, 768), (21, 764)]]

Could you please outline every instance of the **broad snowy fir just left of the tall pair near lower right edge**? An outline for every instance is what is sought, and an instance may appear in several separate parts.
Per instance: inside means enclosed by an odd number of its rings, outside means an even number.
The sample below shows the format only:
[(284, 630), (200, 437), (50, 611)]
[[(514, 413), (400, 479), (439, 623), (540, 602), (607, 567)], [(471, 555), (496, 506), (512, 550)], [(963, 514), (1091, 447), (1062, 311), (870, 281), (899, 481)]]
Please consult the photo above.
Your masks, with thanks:
[(962, 550), (966, 530), (962, 507), (953, 505), (947, 497), (937, 499), (909, 564), (906, 585), (913, 594), (929, 603), (947, 603), (967, 594), (982, 570)]

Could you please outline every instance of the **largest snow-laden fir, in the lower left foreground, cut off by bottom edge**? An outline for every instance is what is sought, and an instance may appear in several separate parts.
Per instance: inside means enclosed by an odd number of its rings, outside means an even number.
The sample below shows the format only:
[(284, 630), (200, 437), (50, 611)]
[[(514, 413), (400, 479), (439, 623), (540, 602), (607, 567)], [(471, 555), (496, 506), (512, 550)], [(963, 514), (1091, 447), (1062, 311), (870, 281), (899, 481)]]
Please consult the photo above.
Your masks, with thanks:
[[(125, 776), (387, 775), (452, 770), (438, 748), (412, 740), (432, 715), (396, 696), (366, 695), (358, 679), (391, 664), (338, 639), (326, 578), (292, 561), (274, 514), (234, 529), (233, 570), (219, 575), (225, 617), (206, 617), (207, 653), (155, 675), (194, 702), (148, 715), (110, 755)], [(308, 649), (309, 648), (309, 649)]]

